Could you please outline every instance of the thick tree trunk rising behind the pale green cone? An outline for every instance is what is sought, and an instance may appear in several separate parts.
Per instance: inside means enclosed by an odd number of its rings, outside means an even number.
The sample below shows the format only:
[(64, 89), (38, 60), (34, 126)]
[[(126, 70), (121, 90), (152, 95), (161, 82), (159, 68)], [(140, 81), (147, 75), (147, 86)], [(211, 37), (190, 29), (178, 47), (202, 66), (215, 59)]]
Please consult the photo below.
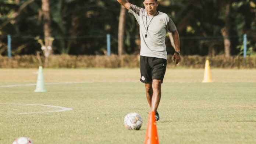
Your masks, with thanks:
[(50, 18), (50, 3), (49, 0), (42, 0), (42, 12), (43, 12), (43, 30), (44, 30), (44, 36), (45, 36), (45, 49), (44, 55), (45, 55), (45, 67), (48, 66), (48, 58), (51, 53), (51, 45), (52, 45), (52, 38), (51, 38), (51, 18)]

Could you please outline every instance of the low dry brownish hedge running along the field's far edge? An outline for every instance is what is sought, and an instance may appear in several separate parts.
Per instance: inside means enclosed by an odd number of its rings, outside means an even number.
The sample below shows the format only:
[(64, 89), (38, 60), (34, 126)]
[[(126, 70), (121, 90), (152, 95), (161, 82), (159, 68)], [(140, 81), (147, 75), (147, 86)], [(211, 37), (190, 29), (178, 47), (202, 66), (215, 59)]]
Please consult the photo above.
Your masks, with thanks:
[[(42, 57), (42, 60), (44, 58)], [(172, 55), (167, 56), (167, 67), (175, 67)], [(198, 55), (182, 56), (179, 67), (204, 68), (205, 60), (210, 60), (213, 68), (256, 68), (256, 56), (246, 58), (246, 66), (242, 56), (225, 58), (224, 55), (216, 57), (202, 57)], [(36, 55), (17, 55), (12, 58), (0, 56), (0, 68), (38, 68)], [(49, 68), (138, 68), (139, 55), (51, 55)]]

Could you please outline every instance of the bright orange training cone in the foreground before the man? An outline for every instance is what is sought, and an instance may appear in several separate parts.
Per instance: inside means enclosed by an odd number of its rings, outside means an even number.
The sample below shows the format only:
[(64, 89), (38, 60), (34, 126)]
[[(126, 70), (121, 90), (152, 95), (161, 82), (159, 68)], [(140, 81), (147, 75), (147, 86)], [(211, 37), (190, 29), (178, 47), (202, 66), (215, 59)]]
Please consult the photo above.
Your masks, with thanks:
[(144, 144), (159, 144), (157, 128), (156, 128), (156, 113), (151, 111), (147, 120), (147, 132)]

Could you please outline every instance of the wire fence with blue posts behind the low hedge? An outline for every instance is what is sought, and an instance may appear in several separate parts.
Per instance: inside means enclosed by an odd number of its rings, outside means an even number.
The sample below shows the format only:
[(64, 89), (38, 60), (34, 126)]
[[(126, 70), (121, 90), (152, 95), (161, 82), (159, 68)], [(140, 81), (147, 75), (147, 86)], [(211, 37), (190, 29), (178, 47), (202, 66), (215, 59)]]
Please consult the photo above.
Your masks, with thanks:
[[(41, 38), (43, 39), (43, 37), (41, 37)], [(255, 37), (250, 36), (250, 38), (255, 38)], [(11, 58), (12, 53), (14, 53), (14, 52), (12, 52), (12, 40), (13, 39), (15, 39), (14, 40), (15, 43), (17, 43), (17, 41), (19, 41), (20, 39), (22, 39), (24, 41), (28, 41), (27, 43), (30, 44), (30, 47), (38, 47), (37, 50), (40, 50), (39, 49), (40, 46), (36, 42), (35, 36), (17, 36), (17, 35), (14, 35), (14, 36), (11, 36), (11, 35), (0, 36), (0, 43), (1, 43), (1, 41), (2, 41), (2, 43), (7, 43), (7, 55), (8, 55), (9, 58)], [(55, 46), (56, 47), (62, 47), (57, 51), (57, 54), (58, 53), (60, 53), (60, 54), (61, 53), (67, 53), (67, 54), (75, 54), (75, 55), (77, 55), (77, 54), (87, 54), (87, 53), (80, 53), (79, 52), (79, 47), (81, 47), (81, 48), (85, 47), (85, 48), (87, 48), (87, 50), (89, 49), (88, 47), (91, 47), (91, 49), (98, 48), (99, 49), (98, 51), (100, 51), (100, 52), (95, 53), (95, 54), (103, 53), (103, 54), (108, 55), (108, 56), (110, 56), (111, 53), (113, 53), (113, 51), (117, 51), (116, 50), (117, 49), (116, 48), (116, 46), (117, 46), (117, 36), (113, 36), (113, 35), (110, 35), (110, 34), (98, 35), (98, 36), (67, 36), (67, 37), (56, 36), (56, 37), (54, 37), (54, 39), (56, 41)], [(139, 39), (139, 37), (125, 37), (125, 39), (129, 39), (131, 41), (131, 40)], [(168, 37), (166, 37), (166, 39), (168, 39)], [(216, 47), (220, 47), (221, 45), (223, 45), (223, 39), (224, 39), (224, 37), (222, 37), (222, 36), (180, 37), (181, 50), (182, 50), (183, 54), (185, 54), (185, 55), (191, 55), (191, 54), (192, 55), (193, 54), (203, 55), (203, 54), (207, 53), (206, 48), (204, 48), (207, 45), (208, 53), (215, 53), (216, 54), (216, 52), (212, 52), (212, 51), (214, 51), (213, 50), (214, 45), (217, 45)], [(242, 54), (243, 54), (244, 59), (246, 59), (248, 36), (246, 34), (243, 35), (243, 37), (230, 36), (230, 39), (243, 39), (243, 52), (242, 52)], [(6, 40), (7, 40), (7, 42), (6, 42)], [(24, 41), (22, 41), (22, 42), (24, 42)], [(80, 43), (80, 45), (77, 44), (77, 50), (75, 50), (75, 48), (72, 48), (71, 53), (69, 53), (70, 50), (69, 50), (68, 46), (66, 46), (67, 48), (64, 46), (65, 43), (67, 43), (67, 41), (69, 41), (70, 43)], [(73, 42), (73, 41), (75, 41), (75, 42)], [(197, 43), (195, 43), (195, 41), (197, 41)], [(237, 40), (235, 40), (235, 41), (237, 41)], [(167, 42), (167, 43), (168, 43), (167, 47), (171, 47), (170, 42)], [(19, 44), (19, 45), (21, 45), (21, 44)], [(68, 44), (66, 44), (66, 45), (68, 45)], [(91, 46), (91, 45), (93, 45), (93, 46)], [(240, 45), (242, 45), (242, 44), (240, 44)], [(112, 49), (112, 51), (111, 51), (111, 46), (115, 47), (115, 48)], [(189, 47), (199, 47), (199, 50), (196, 50), (195, 48), (186, 49), (185, 47), (188, 47), (188, 46)], [(16, 44), (16, 47), (17, 47), (17, 44)], [(26, 46), (23, 46), (23, 47), (26, 47)], [(203, 48), (200, 48), (200, 47), (203, 47)], [(1, 48), (1, 46), (0, 46), (0, 48)], [(19, 48), (15, 48), (16, 51), (19, 51), (21, 49), (22, 49), (22, 47), (20, 47), (20, 46), (19, 46)], [(201, 50), (201, 49), (204, 49), (204, 50)], [(223, 50), (223, 48), (220, 48), (220, 49)], [(35, 51), (35, 48), (34, 49), (30, 48), (26, 51), (29, 54), (29, 51)], [(132, 50), (130, 50), (130, 51), (132, 51)], [(201, 51), (201, 53), (200, 53), (200, 51)], [(172, 51), (167, 50), (167, 52), (172, 52)], [(0, 54), (1, 54), (1, 51), (0, 51)], [(91, 55), (93, 53), (88, 53), (88, 54)]]

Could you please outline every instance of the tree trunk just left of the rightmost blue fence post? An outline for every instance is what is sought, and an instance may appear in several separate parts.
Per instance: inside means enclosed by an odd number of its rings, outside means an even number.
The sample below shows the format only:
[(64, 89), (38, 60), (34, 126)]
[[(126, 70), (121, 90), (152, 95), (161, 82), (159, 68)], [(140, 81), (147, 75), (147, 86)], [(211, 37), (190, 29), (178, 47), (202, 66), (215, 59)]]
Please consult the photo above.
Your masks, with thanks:
[(225, 57), (230, 57), (230, 7), (231, 0), (228, 0), (228, 3), (225, 7), (225, 27), (221, 30), (222, 35), (224, 36)]

